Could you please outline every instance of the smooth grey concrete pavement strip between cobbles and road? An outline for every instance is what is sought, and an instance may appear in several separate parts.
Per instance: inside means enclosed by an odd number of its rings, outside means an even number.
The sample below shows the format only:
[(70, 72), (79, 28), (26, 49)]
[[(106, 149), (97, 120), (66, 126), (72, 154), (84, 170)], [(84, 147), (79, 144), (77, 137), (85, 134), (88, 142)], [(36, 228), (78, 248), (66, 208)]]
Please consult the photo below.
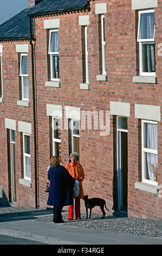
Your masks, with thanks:
[(161, 236), (143, 237), (111, 233), (72, 227), (66, 223), (31, 221), (27, 217), (0, 217), (0, 234), (31, 239), (49, 245), (162, 245)]

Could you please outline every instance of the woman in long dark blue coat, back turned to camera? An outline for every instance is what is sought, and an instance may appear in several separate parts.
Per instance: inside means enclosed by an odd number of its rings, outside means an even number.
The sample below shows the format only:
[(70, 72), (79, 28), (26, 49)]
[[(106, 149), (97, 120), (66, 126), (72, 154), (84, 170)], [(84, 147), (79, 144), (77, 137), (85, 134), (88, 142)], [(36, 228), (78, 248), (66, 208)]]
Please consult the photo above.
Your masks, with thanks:
[(53, 222), (61, 223), (62, 208), (64, 205), (73, 203), (73, 187), (75, 179), (69, 174), (67, 169), (60, 165), (58, 156), (52, 156), (48, 170), (48, 180), (50, 180), (49, 196), (47, 205), (54, 206)]

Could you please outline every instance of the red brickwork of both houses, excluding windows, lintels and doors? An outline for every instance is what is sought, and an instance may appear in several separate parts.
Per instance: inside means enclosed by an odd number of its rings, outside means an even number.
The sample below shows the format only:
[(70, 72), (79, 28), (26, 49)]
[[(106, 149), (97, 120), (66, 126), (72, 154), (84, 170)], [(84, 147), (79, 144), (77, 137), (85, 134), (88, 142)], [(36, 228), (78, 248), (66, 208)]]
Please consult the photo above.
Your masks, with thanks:
[[(106, 38), (106, 69), (108, 82), (96, 81), (100, 73), (99, 66), (99, 26), (98, 15), (95, 15), (95, 3), (107, 2), (105, 14)], [(47, 104), (62, 105), (63, 122), (66, 120), (65, 106), (80, 107), (81, 111), (109, 111), (110, 101), (131, 103), (131, 116), (128, 118), (128, 216), (161, 218), (162, 203), (157, 195), (134, 188), (134, 182), (140, 181), (141, 176), (141, 149), (140, 149), (140, 120), (134, 118), (134, 104), (161, 106), (161, 62), (156, 54), (157, 84), (133, 83), (133, 76), (138, 75), (138, 45), (136, 36), (135, 11), (131, 8), (131, 0), (127, 1), (91, 1), (90, 11), (85, 13), (66, 13), (35, 19), (35, 64), (36, 64), (36, 90), (37, 90), (37, 131), (38, 131), (38, 173), (39, 173), (39, 202), (40, 207), (46, 207), (47, 193), (44, 192), (47, 181), (47, 167), (50, 159), (50, 129), (49, 117), (46, 113)], [(155, 8), (155, 41), (161, 42), (161, 16), (162, 2)], [(82, 45), (81, 26), (78, 24), (79, 15), (89, 15), (88, 35), (88, 65), (90, 90), (81, 90), (82, 83)], [(59, 57), (61, 88), (45, 87), (48, 81), (48, 31), (44, 29), (44, 20), (60, 19), (59, 28)], [(31, 95), (31, 68), (30, 77), (30, 108), (16, 105), (18, 99), (18, 73), (16, 53), (11, 57), (10, 52), (15, 51), (13, 42), (4, 44), (5, 56), (4, 73), (4, 103), (2, 103), (1, 129), (2, 144), (0, 145), (1, 166), (0, 182), (8, 194), (8, 170), (6, 131), (4, 118), (33, 122), (32, 95)], [(4, 54), (5, 53), (5, 54)], [(8, 65), (8, 58), (10, 62)], [(12, 68), (13, 64), (14, 70)], [(9, 76), (12, 74), (12, 76)], [(13, 83), (14, 81), (14, 83)], [(9, 93), (13, 86), (14, 93)], [(14, 105), (13, 105), (14, 104)], [(114, 118), (115, 120), (115, 118)], [(158, 184), (162, 182), (161, 174), (161, 122), (158, 122)], [(33, 127), (33, 126), (32, 126)], [(116, 207), (116, 135), (114, 132), (113, 116), (111, 115), (111, 130), (108, 136), (100, 136), (99, 130), (80, 129), (80, 163), (85, 170), (83, 188), (89, 197), (101, 197), (106, 200), (107, 208), (112, 214)], [(114, 127), (114, 129), (113, 129)], [(17, 204), (28, 202), (34, 206), (34, 142), (31, 136), (31, 181), (32, 188), (24, 187), (17, 181)], [(17, 180), (21, 177), (20, 166), (20, 134), (16, 133), (17, 141)], [(68, 163), (68, 131), (61, 132), (62, 164)], [(114, 184), (114, 189), (113, 189)], [(28, 196), (27, 196), (28, 195)], [(114, 197), (114, 198), (113, 198)], [(82, 200), (81, 200), (82, 201)], [(114, 205), (114, 206), (113, 206)], [(82, 201), (82, 210), (85, 211)], [(100, 212), (95, 208), (93, 212)]]

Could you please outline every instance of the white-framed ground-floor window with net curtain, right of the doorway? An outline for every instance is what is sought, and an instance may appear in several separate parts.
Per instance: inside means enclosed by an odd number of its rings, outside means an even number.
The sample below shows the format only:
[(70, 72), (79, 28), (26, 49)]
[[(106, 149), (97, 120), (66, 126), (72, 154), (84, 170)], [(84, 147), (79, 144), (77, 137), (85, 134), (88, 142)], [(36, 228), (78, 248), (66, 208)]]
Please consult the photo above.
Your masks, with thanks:
[(142, 120), (142, 181), (157, 185), (157, 122)]

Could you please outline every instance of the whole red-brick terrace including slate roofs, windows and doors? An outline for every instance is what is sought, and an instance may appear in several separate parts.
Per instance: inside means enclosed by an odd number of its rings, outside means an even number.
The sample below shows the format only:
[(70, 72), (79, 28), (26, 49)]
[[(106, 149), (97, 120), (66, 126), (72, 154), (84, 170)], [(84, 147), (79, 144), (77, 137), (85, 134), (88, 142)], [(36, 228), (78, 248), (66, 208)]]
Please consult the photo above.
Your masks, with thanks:
[(46, 208), (50, 157), (77, 151), (110, 214), (162, 218), (161, 10), (29, 1), (0, 26), (0, 202)]

